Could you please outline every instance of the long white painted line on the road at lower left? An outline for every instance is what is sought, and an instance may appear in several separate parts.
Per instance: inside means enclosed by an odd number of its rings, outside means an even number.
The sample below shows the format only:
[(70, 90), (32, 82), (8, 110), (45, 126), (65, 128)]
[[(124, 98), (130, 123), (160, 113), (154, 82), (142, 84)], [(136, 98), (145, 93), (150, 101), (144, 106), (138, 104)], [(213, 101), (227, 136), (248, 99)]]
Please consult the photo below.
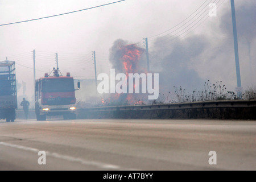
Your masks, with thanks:
[[(5, 143), (5, 142), (0, 142), (0, 145), (7, 146), (7, 147), (18, 148), (20, 150), (26, 150), (26, 151), (36, 152), (36, 153), (38, 153), (40, 151), (37, 148), (25, 147), (25, 146), (20, 146), (20, 145), (17, 145), (17, 144), (11, 144), (11, 143)], [(96, 167), (99, 167), (99, 168), (121, 169), (120, 166), (113, 165), (113, 164), (93, 162), (93, 161), (84, 160), (84, 159), (80, 159), (80, 158), (74, 158), (74, 157), (68, 156), (68, 155), (61, 155), (61, 154), (57, 154), (57, 153), (52, 153), (52, 152), (48, 152), (48, 151), (46, 151), (46, 156), (52, 156), (53, 158), (67, 160), (69, 162), (77, 162), (77, 163), (80, 163), (80, 164), (83, 164), (83, 165), (88, 165), (88, 166), (96, 166)], [(122, 170), (134, 170), (134, 169), (122, 169)]]

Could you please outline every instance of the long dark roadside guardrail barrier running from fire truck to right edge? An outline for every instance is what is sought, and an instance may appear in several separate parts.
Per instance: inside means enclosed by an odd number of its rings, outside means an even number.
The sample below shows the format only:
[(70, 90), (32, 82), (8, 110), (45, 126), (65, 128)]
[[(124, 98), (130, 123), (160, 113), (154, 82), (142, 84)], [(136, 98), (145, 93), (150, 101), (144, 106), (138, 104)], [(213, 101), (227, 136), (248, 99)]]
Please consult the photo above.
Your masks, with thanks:
[(88, 107), (79, 118), (218, 118), (256, 119), (256, 100), (224, 100), (157, 105)]

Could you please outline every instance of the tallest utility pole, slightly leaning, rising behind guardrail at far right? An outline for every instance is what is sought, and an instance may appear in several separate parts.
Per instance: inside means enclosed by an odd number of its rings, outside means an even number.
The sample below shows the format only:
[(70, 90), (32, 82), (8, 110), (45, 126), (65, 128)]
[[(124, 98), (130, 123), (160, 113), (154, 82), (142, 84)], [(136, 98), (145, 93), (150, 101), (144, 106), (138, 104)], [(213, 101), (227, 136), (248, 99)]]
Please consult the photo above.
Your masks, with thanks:
[(234, 0), (230, 0), (230, 2), (231, 2), (233, 36), (234, 36), (234, 53), (235, 53), (235, 60), (236, 60), (236, 73), (237, 73), (237, 96), (238, 98), (242, 98), (241, 76), (240, 76), (240, 65), (239, 65), (238, 43), (237, 43), (236, 12), (234, 7)]

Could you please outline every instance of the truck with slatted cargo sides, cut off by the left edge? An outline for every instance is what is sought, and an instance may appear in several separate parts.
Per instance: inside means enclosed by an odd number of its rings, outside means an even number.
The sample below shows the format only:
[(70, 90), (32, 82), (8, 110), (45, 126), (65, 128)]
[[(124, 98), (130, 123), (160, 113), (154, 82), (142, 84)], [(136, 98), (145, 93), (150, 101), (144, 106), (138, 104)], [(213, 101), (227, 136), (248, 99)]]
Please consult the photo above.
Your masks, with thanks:
[(14, 122), (17, 107), (15, 61), (0, 61), (0, 119)]

